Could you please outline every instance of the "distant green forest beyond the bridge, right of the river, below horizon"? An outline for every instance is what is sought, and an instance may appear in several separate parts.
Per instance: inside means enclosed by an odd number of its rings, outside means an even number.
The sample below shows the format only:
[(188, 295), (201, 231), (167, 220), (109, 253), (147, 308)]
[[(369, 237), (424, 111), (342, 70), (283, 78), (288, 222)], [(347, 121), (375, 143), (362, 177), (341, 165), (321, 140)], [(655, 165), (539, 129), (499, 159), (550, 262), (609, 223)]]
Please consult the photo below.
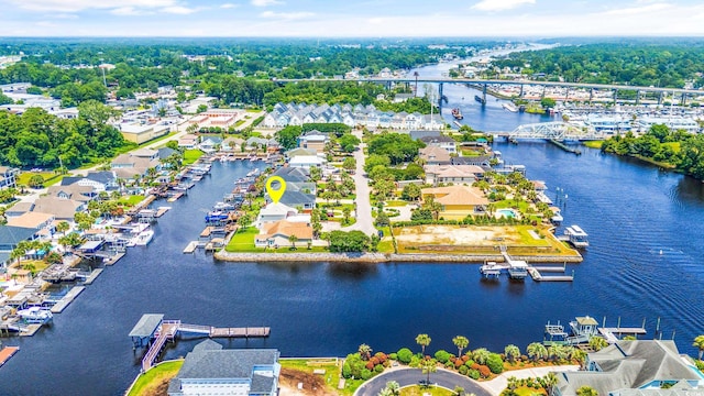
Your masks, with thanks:
[[(704, 86), (704, 43), (600, 43), (510, 54), (496, 66), (544, 73), (546, 79), (682, 88)], [(529, 65), (529, 67), (526, 67)]]

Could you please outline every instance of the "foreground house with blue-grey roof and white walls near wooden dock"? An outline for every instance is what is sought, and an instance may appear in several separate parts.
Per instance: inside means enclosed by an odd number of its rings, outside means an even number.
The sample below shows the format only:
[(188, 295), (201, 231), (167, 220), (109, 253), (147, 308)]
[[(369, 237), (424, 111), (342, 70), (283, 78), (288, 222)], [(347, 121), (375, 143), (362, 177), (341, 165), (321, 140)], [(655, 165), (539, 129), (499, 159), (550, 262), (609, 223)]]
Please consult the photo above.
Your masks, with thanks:
[(274, 349), (226, 350), (206, 340), (186, 355), (168, 384), (168, 396), (276, 396), (279, 352)]

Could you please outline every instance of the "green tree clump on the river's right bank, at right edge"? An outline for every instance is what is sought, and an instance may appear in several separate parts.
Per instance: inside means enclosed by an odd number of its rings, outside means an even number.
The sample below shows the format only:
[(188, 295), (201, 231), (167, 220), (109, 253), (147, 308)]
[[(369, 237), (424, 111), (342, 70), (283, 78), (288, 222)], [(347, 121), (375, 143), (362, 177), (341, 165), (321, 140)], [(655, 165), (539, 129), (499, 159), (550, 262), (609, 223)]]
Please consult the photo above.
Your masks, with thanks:
[(640, 156), (704, 179), (704, 135), (685, 131), (671, 131), (666, 125), (653, 125), (648, 133), (635, 136), (613, 136), (602, 144), (602, 151), (618, 155)]

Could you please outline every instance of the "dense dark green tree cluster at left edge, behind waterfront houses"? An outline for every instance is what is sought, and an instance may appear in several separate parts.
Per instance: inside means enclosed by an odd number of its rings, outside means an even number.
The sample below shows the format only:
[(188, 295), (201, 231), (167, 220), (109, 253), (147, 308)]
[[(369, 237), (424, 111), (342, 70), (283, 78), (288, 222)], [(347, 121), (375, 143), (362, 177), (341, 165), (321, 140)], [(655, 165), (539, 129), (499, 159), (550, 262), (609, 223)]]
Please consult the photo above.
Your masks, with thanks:
[(64, 120), (40, 108), (22, 116), (0, 111), (0, 164), (19, 167), (78, 167), (112, 157), (130, 146), (107, 122), (112, 109), (88, 100), (78, 106), (79, 118)]

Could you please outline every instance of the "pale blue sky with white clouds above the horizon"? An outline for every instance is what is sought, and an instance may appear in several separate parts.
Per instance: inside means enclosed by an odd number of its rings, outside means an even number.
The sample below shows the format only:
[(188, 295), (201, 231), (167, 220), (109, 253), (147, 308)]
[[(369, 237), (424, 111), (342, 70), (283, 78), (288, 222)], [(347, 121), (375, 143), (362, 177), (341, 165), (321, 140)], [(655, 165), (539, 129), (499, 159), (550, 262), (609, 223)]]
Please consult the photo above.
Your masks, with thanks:
[(692, 0), (0, 0), (0, 36), (704, 35)]

